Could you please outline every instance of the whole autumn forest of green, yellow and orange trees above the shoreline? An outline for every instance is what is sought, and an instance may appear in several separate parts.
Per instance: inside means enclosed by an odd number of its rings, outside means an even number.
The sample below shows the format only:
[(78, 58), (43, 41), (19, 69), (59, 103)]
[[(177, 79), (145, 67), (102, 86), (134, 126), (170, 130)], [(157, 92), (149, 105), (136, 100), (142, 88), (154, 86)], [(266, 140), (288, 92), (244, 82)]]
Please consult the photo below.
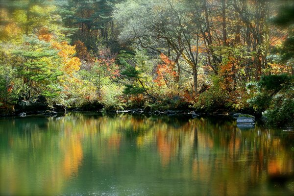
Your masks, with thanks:
[(293, 0), (0, 0), (0, 113), (24, 101), (294, 124)]

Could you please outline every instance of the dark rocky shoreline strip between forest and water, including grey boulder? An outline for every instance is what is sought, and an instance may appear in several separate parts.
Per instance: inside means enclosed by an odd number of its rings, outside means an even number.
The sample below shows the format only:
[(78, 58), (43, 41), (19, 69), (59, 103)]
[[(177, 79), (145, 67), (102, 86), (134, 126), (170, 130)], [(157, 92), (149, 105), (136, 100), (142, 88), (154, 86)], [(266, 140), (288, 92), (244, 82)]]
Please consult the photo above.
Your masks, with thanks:
[[(0, 109), (0, 117), (26, 117), (28, 115), (44, 115), (44, 116), (57, 116), (58, 113), (66, 113), (67, 111), (79, 112), (79, 111), (101, 111), (103, 106), (101, 104), (85, 105), (81, 108), (68, 109), (62, 104), (53, 104), (49, 106), (46, 98), (39, 96), (36, 100), (22, 100), (17, 105), (9, 109)], [(184, 110), (155, 110), (150, 111), (148, 109), (127, 109), (108, 111), (109, 113), (128, 113), (128, 114), (153, 114), (153, 115), (188, 115), (192, 118), (200, 116), (211, 116), (211, 115), (226, 115), (236, 119), (237, 125), (240, 128), (253, 128), (255, 126), (255, 117), (249, 114), (233, 113), (229, 111), (216, 111), (214, 113), (201, 113), (190, 109)]]

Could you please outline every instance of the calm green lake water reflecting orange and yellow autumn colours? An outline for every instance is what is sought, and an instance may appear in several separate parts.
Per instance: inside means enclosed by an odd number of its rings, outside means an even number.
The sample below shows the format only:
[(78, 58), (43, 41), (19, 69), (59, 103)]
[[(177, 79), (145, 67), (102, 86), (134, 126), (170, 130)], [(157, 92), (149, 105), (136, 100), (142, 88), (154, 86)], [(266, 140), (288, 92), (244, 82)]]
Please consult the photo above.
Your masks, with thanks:
[(292, 147), (292, 131), (220, 117), (2, 118), (0, 195), (294, 195)]

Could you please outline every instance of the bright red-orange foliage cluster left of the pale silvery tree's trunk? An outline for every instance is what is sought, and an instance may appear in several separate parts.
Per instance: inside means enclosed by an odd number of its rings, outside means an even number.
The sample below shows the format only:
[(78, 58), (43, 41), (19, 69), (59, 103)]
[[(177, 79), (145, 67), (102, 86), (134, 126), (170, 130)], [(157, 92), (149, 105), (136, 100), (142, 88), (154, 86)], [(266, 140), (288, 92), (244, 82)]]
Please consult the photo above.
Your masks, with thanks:
[(157, 83), (158, 86), (163, 86), (165, 84), (169, 86), (169, 82), (173, 81), (177, 76), (177, 73), (173, 70), (175, 63), (164, 54), (160, 54), (160, 58), (163, 61), (163, 64), (157, 65), (157, 77), (154, 82)]

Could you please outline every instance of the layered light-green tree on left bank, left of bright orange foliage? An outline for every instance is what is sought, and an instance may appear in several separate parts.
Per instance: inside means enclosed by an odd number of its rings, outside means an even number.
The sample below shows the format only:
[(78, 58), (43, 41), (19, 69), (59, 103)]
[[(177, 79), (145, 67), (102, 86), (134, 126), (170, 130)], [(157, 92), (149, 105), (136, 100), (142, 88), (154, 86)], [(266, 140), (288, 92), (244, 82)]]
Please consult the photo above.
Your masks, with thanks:
[(63, 73), (53, 66), (59, 57), (56, 50), (50, 49), (49, 43), (36, 37), (25, 37), (22, 48), (15, 50), (14, 55), (19, 58), (16, 66), (18, 77), (22, 78), (27, 86), (24, 92), (26, 99), (31, 95), (44, 95), (49, 98), (57, 96), (57, 88), (52, 85)]

